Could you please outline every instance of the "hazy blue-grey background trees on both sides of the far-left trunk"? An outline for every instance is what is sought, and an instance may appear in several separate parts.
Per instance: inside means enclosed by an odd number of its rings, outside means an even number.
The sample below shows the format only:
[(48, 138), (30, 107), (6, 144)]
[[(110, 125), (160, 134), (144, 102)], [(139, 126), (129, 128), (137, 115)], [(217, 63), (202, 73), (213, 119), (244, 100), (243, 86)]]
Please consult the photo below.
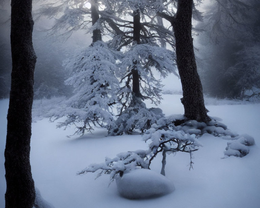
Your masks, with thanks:
[[(6, 26), (6, 25), (4, 25)], [(3, 27), (3, 26), (2, 26)], [(34, 99), (53, 96), (68, 96), (72, 88), (64, 84), (67, 77), (62, 61), (66, 59), (68, 49), (53, 38), (44, 37), (43, 33), (34, 31), (34, 48), (39, 59), (35, 66)], [(0, 37), (0, 98), (9, 98), (11, 86), (11, 48), (8, 38)], [(67, 52), (67, 53), (66, 53)]]

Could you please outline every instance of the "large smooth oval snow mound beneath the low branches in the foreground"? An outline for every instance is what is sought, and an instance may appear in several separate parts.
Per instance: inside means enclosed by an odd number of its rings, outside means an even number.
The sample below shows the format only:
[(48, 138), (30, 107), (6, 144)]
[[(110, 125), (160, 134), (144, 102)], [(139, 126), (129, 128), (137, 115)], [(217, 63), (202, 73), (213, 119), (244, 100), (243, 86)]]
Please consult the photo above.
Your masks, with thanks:
[(116, 179), (119, 193), (128, 199), (159, 197), (174, 191), (171, 180), (148, 169), (136, 169)]

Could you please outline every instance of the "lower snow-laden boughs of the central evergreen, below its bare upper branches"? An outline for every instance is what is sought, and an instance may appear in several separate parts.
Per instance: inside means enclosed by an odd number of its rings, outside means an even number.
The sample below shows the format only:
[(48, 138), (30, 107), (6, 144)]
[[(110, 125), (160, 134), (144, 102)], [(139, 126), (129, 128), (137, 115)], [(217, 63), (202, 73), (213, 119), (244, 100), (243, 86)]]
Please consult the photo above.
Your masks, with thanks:
[[(157, 70), (163, 77), (168, 73), (176, 74), (173, 62), (174, 53), (157, 45), (134, 44), (124, 53), (119, 70), (123, 74), (125, 85), (119, 90), (119, 101), (122, 105), (116, 121), (118, 127), (110, 131), (109, 135), (130, 133), (134, 129), (145, 131), (164, 116), (159, 108), (147, 109), (142, 100), (150, 99), (155, 104), (160, 103), (162, 84), (153, 76), (153, 71)], [(134, 73), (138, 79), (137, 89), (133, 86)]]

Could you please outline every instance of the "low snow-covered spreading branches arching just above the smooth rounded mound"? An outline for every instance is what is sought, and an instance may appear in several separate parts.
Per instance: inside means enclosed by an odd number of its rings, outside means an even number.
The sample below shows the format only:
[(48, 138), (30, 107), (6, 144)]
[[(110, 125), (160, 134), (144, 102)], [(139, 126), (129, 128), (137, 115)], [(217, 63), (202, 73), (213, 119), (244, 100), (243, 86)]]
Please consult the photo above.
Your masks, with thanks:
[[(168, 119), (172, 119), (169, 117)], [(147, 150), (137, 150), (121, 152), (111, 159), (106, 157), (105, 162), (100, 164), (91, 164), (78, 174), (87, 172), (96, 172), (101, 170), (97, 177), (104, 174), (110, 174), (110, 183), (120, 175), (128, 173), (138, 168), (150, 169), (152, 160), (160, 152), (175, 153), (187, 152), (191, 154), (202, 146), (195, 134), (186, 134), (184, 131), (175, 131), (174, 125), (167, 125), (167, 118), (158, 120), (158, 124), (153, 124), (149, 130), (143, 135), (143, 140), (149, 143)], [(167, 129), (161, 128), (167, 126)], [(192, 157), (191, 157), (192, 158)], [(193, 162), (190, 162), (192, 168)]]

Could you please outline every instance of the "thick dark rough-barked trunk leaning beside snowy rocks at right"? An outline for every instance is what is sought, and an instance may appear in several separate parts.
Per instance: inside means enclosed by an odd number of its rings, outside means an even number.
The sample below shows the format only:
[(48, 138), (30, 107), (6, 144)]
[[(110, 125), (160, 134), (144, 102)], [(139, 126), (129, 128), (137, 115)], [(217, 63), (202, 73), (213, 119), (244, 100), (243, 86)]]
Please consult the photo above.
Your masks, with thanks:
[(192, 4), (192, 0), (179, 0), (173, 23), (177, 67), (183, 89), (181, 102), (184, 106), (184, 115), (188, 119), (208, 122), (210, 119), (204, 105), (202, 84), (197, 72), (191, 35)]

